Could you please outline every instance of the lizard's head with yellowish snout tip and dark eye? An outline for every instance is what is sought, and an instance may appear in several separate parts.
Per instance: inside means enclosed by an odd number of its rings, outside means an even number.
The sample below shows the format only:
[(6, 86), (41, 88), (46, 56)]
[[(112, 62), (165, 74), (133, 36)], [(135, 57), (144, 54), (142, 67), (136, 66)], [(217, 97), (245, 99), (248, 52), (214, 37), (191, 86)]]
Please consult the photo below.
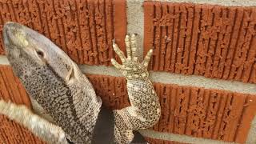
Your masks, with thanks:
[(50, 39), (26, 26), (6, 22), (3, 40), (7, 58), (18, 78), (29, 77), (31, 73), (47, 67), (68, 82), (79, 72), (74, 62)]

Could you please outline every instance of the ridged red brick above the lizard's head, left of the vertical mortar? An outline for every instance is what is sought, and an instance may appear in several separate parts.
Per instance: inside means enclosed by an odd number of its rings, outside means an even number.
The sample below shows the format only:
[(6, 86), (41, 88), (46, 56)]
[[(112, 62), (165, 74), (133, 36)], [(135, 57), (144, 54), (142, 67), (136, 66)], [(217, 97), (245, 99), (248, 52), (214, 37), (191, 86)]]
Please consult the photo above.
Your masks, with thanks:
[(109, 66), (114, 38), (125, 50), (125, 0), (0, 1), (0, 54), (2, 26), (8, 21), (46, 35), (80, 64)]

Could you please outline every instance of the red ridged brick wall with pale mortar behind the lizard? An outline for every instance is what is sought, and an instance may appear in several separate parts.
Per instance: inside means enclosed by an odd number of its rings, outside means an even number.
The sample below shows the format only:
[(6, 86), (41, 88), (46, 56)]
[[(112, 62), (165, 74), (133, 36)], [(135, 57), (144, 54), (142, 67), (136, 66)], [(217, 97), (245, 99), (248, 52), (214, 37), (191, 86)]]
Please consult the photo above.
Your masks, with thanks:
[[(218, 6), (216, 4), (219, 4)], [(256, 2), (202, 0), (0, 0), (7, 21), (46, 35), (81, 67), (102, 101), (129, 106), (126, 80), (110, 65), (112, 39), (126, 50), (138, 34), (140, 58), (154, 47), (150, 76), (162, 106), (160, 121), (141, 130), (150, 143), (255, 143)], [(30, 106), (0, 35), (0, 98)], [(0, 116), (0, 143), (41, 142)]]

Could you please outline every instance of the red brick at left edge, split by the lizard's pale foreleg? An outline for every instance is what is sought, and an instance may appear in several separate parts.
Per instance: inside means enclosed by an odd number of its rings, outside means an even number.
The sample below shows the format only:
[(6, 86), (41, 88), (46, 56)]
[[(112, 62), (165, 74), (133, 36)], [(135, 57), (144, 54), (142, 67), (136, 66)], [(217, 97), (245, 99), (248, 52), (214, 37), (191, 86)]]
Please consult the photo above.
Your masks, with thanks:
[[(30, 99), (10, 66), (0, 66), (0, 99), (30, 106)], [(6, 144), (42, 144), (29, 130), (14, 121), (0, 115), (0, 143)]]

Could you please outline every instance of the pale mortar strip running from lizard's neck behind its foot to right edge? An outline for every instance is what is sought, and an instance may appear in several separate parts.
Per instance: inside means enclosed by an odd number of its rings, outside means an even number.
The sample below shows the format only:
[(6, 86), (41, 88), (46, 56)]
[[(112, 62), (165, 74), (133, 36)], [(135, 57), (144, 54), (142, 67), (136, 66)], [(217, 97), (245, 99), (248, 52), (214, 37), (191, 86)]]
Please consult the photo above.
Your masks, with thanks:
[[(114, 67), (80, 65), (80, 69), (86, 74), (104, 74), (122, 77)], [(166, 72), (150, 71), (150, 79), (153, 82), (177, 84), (178, 86), (196, 86), (206, 89), (230, 90), (238, 93), (256, 94), (256, 84), (244, 82), (232, 82), (221, 79), (205, 78), (198, 75), (172, 74)]]

